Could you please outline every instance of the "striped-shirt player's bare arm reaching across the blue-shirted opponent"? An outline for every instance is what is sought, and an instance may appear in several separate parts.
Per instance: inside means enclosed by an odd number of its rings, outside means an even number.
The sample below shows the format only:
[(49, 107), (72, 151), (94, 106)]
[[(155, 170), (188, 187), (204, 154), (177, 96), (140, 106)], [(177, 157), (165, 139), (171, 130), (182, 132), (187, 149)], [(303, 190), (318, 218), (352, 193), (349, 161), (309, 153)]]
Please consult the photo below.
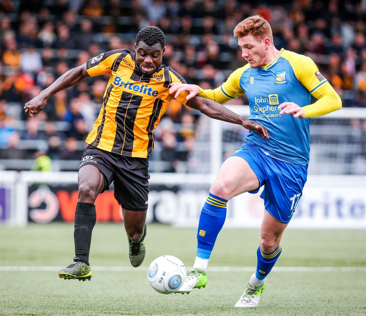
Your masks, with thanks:
[[(187, 84), (184, 85), (187, 86)], [(250, 131), (256, 131), (262, 136), (262, 138), (269, 139), (268, 131), (264, 126), (257, 122), (245, 119), (215, 101), (195, 96), (187, 101), (187, 106), (199, 110), (201, 113), (211, 117), (212, 119), (240, 124)]]

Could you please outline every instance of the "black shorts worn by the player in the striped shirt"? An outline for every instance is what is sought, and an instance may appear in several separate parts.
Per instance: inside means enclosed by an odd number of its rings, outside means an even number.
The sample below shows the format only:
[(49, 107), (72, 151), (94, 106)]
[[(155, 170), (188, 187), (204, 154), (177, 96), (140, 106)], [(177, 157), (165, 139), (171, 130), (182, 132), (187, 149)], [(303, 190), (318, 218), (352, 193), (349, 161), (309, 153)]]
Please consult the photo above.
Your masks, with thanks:
[(114, 181), (114, 196), (125, 210), (146, 211), (150, 174), (147, 158), (126, 157), (89, 145), (83, 152), (82, 166), (96, 166), (104, 176), (104, 189)]

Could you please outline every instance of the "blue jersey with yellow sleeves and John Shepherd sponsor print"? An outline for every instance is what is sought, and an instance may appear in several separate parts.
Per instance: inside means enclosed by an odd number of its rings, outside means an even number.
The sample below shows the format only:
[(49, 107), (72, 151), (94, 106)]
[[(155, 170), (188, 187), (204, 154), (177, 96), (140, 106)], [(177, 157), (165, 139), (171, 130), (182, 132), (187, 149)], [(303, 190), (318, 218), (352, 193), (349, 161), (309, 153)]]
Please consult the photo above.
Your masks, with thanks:
[[(268, 155), (296, 165), (309, 163), (310, 117), (341, 108), (341, 100), (322, 76), (311, 58), (281, 49), (268, 65), (236, 69), (220, 87), (200, 88), (199, 96), (224, 104), (246, 94), (249, 99), (249, 119), (268, 129), (270, 140), (250, 131), (246, 142), (254, 143)], [(310, 104), (313, 95), (318, 99)], [(306, 119), (280, 114), (278, 106), (294, 102), (303, 107)]]

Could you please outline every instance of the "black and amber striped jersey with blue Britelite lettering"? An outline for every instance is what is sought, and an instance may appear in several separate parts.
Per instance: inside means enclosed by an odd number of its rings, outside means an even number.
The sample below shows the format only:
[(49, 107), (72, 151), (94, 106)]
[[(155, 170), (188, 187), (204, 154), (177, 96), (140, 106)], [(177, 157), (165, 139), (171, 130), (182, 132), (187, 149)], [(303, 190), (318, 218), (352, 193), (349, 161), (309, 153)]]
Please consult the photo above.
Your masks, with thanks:
[[(154, 148), (153, 130), (167, 110), (172, 82), (186, 81), (171, 67), (161, 65), (152, 75), (135, 64), (136, 54), (116, 49), (89, 59), (90, 76), (110, 74), (102, 108), (86, 142), (116, 154), (147, 158)], [(177, 100), (186, 104), (187, 93)]]

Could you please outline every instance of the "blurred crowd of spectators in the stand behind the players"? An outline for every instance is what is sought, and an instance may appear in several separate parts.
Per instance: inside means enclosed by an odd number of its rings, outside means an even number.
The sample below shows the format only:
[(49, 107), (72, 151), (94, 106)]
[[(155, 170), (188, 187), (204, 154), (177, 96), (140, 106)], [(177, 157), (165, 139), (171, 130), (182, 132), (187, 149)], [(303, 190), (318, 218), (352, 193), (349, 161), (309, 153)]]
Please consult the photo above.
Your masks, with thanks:
[[(233, 38), (238, 22), (259, 14), (277, 49), (310, 56), (345, 107), (366, 107), (366, 1), (3, 0), (0, 1), (0, 159), (79, 160), (108, 76), (56, 93), (29, 119), (23, 105), (68, 69), (112, 49), (134, 50), (136, 33), (159, 26), (163, 63), (188, 83), (219, 86), (244, 60)], [(232, 104), (247, 104), (245, 95)], [(199, 113), (172, 102), (156, 132), (157, 171), (186, 171)], [(46, 165), (46, 166), (45, 166)], [(77, 168), (77, 165), (76, 165)]]

